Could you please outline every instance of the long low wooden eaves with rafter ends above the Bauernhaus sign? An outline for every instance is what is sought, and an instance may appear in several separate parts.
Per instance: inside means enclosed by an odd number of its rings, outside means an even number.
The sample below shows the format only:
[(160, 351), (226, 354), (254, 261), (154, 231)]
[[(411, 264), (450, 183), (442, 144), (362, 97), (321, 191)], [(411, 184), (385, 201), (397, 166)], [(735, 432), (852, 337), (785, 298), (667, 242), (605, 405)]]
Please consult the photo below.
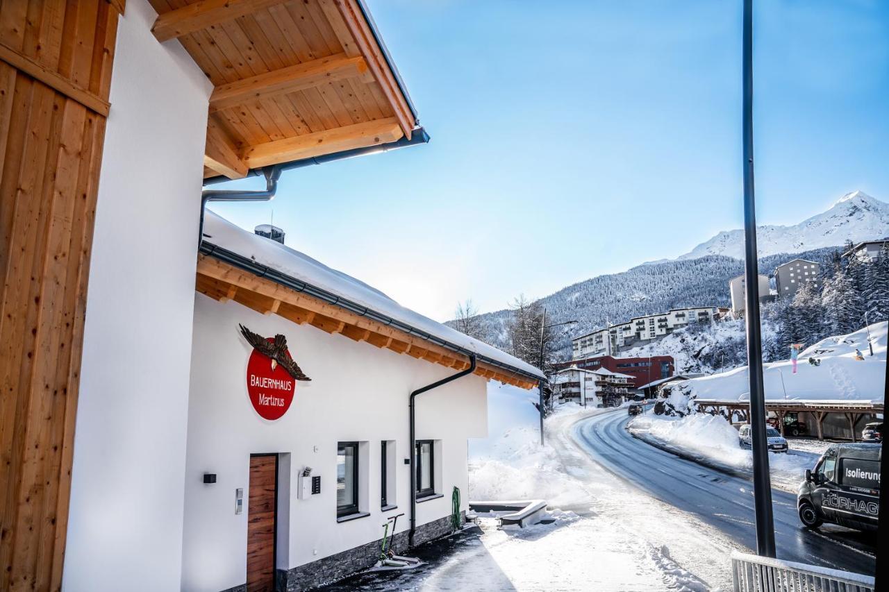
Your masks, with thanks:
[[(327, 333), (339, 333), (350, 340), (364, 341), (376, 348), (386, 348), (396, 354), (458, 371), (469, 368), (468, 352), (458, 346), (442, 340), (433, 342), (431, 336), (424, 337), (421, 332), (408, 332), (395, 324), (386, 324), (377, 320), (381, 318), (380, 314), (366, 308), (364, 314), (360, 314), (361, 307), (347, 306), (347, 300), (317, 298), (312, 293), (323, 291), (298, 280), (292, 282), (305, 286), (299, 291), (220, 260), (212, 253), (224, 250), (206, 241), (201, 245), (201, 251), (197, 258), (196, 291), (213, 300), (234, 300), (263, 315), (283, 316), (296, 324), (309, 324)], [(538, 385), (537, 378), (532, 375), (482, 356), (478, 357), (474, 373), (519, 388), (536, 388)]]

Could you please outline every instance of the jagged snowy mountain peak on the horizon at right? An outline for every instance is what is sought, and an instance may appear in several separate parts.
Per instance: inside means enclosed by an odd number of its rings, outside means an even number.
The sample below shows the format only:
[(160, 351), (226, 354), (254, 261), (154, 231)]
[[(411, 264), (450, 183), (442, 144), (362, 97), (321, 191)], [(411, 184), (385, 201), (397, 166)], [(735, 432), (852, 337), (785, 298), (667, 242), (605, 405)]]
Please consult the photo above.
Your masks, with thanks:
[[(838, 246), (851, 240), (865, 240), (889, 236), (889, 204), (862, 191), (840, 197), (827, 212), (821, 212), (795, 226), (757, 227), (759, 256), (779, 252), (801, 252), (828, 246)], [(744, 258), (744, 231), (723, 231), (694, 247), (677, 259), (698, 259), (707, 255)]]

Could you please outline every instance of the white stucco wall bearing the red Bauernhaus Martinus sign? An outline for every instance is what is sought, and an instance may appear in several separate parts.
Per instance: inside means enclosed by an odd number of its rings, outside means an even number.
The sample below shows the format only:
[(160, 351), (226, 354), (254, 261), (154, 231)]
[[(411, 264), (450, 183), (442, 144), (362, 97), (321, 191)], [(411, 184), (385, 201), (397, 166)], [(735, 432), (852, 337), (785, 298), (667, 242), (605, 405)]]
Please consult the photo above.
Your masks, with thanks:
[[(246, 391), (251, 348), (238, 333), (242, 323), (261, 335), (284, 333), (294, 359), (311, 382), (298, 382), (284, 417), (263, 420)], [(414, 388), (452, 374), (453, 369), (420, 361), (280, 316), (262, 316), (236, 302), (196, 295), (191, 394), (188, 410), (185, 533), (182, 589), (209, 592), (246, 580), (247, 501), (235, 514), (235, 491), (249, 490), (251, 453), (289, 453), (291, 495), (278, 508), (279, 541), (288, 524), (286, 546), (278, 544), (279, 568), (292, 568), (382, 535), (385, 516), (404, 512), (398, 531), (408, 528), (408, 396)], [(444, 497), (417, 505), (418, 524), (451, 513), (456, 485), (467, 505), (467, 438), (487, 430), (485, 380), (469, 376), (418, 397), (418, 439), (441, 440), (436, 465)], [(396, 441), (397, 509), (380, 512), (380, 440)], [(340, 441), (368, 442), (366, 509), (371, 516), (337, 523), (336, 447)], [(320, 475), (322, 492), (296, 496), (305, 466)], [(215, 473), (216, 484), (204, 484)], [(439, 473), (439, 470), (436, 470)], [(282, 470), (280, 479), (288, 478)], [(392, 503), (390, 500), (389, 503)], [(284, 548), (286, 547), (286, 548)], [(283, 549), (283, 550), (282, 550)]]

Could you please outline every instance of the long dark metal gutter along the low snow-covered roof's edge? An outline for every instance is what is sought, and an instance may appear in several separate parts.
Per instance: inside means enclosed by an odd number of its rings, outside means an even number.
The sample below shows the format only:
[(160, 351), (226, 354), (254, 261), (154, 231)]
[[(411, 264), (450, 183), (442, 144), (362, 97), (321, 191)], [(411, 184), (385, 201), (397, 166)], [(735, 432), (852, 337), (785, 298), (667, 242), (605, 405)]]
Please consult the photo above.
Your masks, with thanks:
[(286, 274), (283, 274), (276, 269), (261, 265), (260, 263), (257, 263), (252, 259), (244, 257), (244, 255), (238, 254), (233, 251), (228, 251), (228, 249), (220, 247), (217, 244), (212, 244), (204, 240), (201, 243), (198, 251), (203, 253), (204, 255), (208, 255), (214, 259), (228, 263), (232, 267), (248, 271), (255, 276), (265, 277), (266, 279), (275, 282), (276, 284), (283, 285), (285, 288), (289, 288), (294, 292), (303, 292), (313, 298), (323, 300), (328, 304), (332, 304), (334, 306), (343, 308), (344, 310), (348, 310), (348, 312), (350, 313), (370, 318), (378, 323), (393, 327), (398, 331), (405, 332), (414, 337), (419, 337), (421, 340), (428, 341), (429, 343), (435, 344), (441, 348), (449, 349), (454, 353), (461, 354), (462, 356), (467, 357), (475, 356), (477, 357), (479, 362), (494, 366), (495, 368), (500, 368), (505, 372), (517, 374), (528, 380), (533, 380), (535, 382), (541, 380), (542, 372), (541, 376), (537, 376), (535, 374), (532, 374), (531, 372), (525, 372), (524, 370), (516, 368), (515, 366), (510, 366), (509, 364), (504, 364), (502, 362), (494, 360), (493, 358), (477, 354), (474, 351), (470, 351), (467, 348), (462, 348), (461, 346), (453, 344), (450, 341), (443, 340), (439, 337), (436, 337), (435, 335), (432, 335), (429, 332), (425, 332), (421, 329), (413, 327), (410, 324), (403, 323), (402, 321), (392, 318), (391, 316), (383, 315), (382, 313), (377, 312), (372, 308), (367, 308), (352, 300), (348, 300), (337, 296), (332, 292), (328, 292), (323, 288), (318, 288), (312, 284), (302, 282), (295, 277), (287, 276)]

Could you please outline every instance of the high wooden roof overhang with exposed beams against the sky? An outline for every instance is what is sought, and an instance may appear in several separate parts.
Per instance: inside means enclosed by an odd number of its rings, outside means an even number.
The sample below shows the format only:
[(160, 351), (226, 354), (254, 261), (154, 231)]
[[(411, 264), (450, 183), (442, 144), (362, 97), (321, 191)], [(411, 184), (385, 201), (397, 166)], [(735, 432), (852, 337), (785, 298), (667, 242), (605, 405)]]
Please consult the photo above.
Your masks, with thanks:
[(149, 0), (210, 79), (204, 179), (411, 140), (416, 113), (361, 0)]

